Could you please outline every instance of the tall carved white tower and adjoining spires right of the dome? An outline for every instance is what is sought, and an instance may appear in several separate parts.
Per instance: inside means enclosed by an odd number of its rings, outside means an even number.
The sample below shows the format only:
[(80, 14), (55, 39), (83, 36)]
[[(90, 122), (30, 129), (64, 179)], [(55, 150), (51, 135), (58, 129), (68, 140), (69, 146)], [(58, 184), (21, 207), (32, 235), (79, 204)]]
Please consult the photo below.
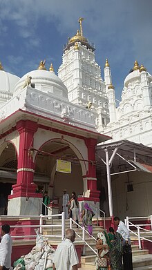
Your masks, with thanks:
[[(77, 35), (75, 35), (76, 37)], [(104, 80), (95, 61), (95, 50), (81, 38), (68, 41), (58, 70), (68, 89), (70, 102), (86, 106), (92, 102), (97, 131), (112, 141), (129, 139), (152, 146), (152, 76), (137, 61), (124, 80), (122, 99), (116, 108), (111, 68), (106, 59)], [(117, 90), (117, 89), (116, 89)], [(110, 142), (110, 141), (108, 141)]]

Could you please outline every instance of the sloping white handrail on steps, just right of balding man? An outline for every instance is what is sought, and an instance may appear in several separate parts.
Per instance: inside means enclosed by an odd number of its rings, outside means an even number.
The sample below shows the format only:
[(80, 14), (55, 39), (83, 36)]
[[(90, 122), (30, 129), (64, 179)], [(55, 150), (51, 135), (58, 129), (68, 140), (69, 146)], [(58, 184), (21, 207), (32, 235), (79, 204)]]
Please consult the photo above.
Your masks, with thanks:
[[(75, 223), (81, 230), (82, 230), (82, 236), (81, 235), (79, 235), (78, 233), (77, 233), (77, 231), (75, 231), (75, 234), (79, 237), (79, 238), (81, 238), (82, 239), (82, 241), (84, 241), (85, 242), (85, 244), (89, 247), (89, 249), (91, 249), (91, 251), (93, 251), (93, 253), (95, 253), (95, 255), (97, 255), (97, 252), (90, 246), (90, 244), (88, 244), (87, 242), (86, 242), (86, 235), (85, 235), (85, 233), (88, 233), (88, 231), (84, 228), (84, 226), (81, 226), (81, 225), (79, 225), (77, 222), (75, 222), (75, 220), (73, 220), (72, 218), (70, 218), (70, 229), (73, 229), (73, 223)], [(90, 238), (93, 238), (93, 240), (95, 240), (95, 242), (96, 242), (96, 239), (95, 239), (95, 237), (93, 236), (93, 235), (91, 235), (90, 233), (88, 233), (88, 235), (89, 235), (89, 237)], [(84, 249), (83, 249), (83, 255), (85, 255), (85, 244), (84, 244)]]

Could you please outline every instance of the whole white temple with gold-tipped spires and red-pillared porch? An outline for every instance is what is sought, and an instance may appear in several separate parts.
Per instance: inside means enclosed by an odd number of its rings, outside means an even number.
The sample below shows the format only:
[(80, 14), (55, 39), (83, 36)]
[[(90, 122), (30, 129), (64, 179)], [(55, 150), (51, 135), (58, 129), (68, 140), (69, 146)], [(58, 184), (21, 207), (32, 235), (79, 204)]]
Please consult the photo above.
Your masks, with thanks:
[[(0, 187), (7, 197), (13, 184), (8, 213), (12, 214), (13, 205), (19, 206), (14, 211), (16, 215), (37, 213), (36, 185), (45, 186), (51, 199), (59, 198), (60, 211), (66, 187), (68, 193), (75, 190), (80, 195), (79, 202), (96, 204), (99, 190), (106, 190), (106, 177), (96, 177), (95, 146), (106, 144), (107, 139), (152, 146), (152, 76), (135, 61), (124, 79), (122, 100), (116, 108), (108, 59), (102, 79), (95, 48), (83, 35), (82, 20), (64, 48), (58, 76), (52, 64), (46, 70), (44, 61), (21, 79), (4, 71), (0, 64)], [(23, 87), (28, 77), (30, 84)], [(73, 173), (68, 177), (55, 171), (57, 157), (74, 160)], [(137, 182), (138, 178), (133, 175), (131, 179)], [(124, 184), (125, 181), (124, 177)], [(112, 189), (117, 199), (115, 187)], [(134, 197), (140, 193), (137, 191)], [(24, 208), (27, 197), (32, 197), (36, 210), (32, 211), (29, 205)], [(117, 206), (116, 199), (114, 208), (122, 215), (122, 206)]]

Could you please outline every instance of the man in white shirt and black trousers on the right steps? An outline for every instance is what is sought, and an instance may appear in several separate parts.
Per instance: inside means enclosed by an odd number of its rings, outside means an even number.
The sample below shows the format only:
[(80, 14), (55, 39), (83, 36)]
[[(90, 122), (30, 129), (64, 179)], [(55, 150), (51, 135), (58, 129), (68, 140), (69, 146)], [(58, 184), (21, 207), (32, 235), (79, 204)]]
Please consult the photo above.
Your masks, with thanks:
[(133, 270), (132, 251), (131, 251), (131, 239), (129, 229), (119, 217), (113, 219), (117, 225), (117, 233), (120, 233), (123, 238), (123, 264), (124, 270)]

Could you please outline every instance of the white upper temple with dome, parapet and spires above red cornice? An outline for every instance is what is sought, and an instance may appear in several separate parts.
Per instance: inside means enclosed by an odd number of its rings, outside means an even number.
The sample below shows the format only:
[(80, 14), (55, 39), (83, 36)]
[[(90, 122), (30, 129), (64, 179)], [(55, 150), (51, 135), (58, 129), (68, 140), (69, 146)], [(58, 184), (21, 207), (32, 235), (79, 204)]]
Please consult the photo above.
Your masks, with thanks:
[[(116, 108), (108, 60), (102, 79), (95, 48), (81, 31), (68, 40), (62, 59), (58, 76), (42, 67), (21, 79), (6, 73), (0, 64), (0, 119), (15, 109), (36, 110), (44, 116), (110, 135), (111, 141), (129, 139), (152, 146), (152, 76), (144, 66), (135, 61), (124, 80), (122, 98)], [(27, 75), (31, 75), (34, 88), (22, 89)], [(88, 102), (92, 103), (89, 109)]]

